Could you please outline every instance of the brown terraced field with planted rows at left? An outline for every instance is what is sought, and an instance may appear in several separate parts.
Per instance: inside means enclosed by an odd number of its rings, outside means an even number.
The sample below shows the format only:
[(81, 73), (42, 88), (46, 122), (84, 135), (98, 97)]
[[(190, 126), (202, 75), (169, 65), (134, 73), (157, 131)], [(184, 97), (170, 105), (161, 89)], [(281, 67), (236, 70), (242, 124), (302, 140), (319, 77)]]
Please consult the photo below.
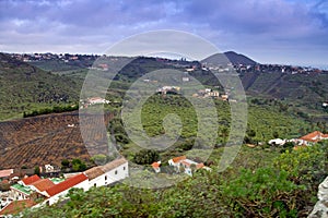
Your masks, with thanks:
[[(106, 131), (96, 131), (101, 122), (108, 123), (113, 114), (87, 114), (87, 129), (94, 149), (107, 146)], [(74, 124), (74, 126), (69, 126)], [(0, 122), (0, 169), (54, 164), (62, 159), (90, 160), (79, 126), (79, 112), (57, 113)]]

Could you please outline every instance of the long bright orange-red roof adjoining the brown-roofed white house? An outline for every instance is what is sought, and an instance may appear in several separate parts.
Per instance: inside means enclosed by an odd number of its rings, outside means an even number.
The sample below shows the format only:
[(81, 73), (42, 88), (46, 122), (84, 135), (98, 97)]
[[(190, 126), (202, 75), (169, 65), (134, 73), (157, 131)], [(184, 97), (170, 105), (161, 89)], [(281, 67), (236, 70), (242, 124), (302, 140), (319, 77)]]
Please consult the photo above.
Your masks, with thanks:
[(60, 182), (60, 183), (51, 186), (46, 192), (49, 196), (54, 196), (54, 195), (56, 195), (60, 192), (63, 192), (63, 191), (66, 191), (70, 187), (75, 186), (77, 184), (79, 184), (79, 183), (81, 183), (85, 180), (87, 180), (87, 177), (83, 173), (80, 173), (80, 174), (77, 174), (77, 175), (74, 175), (74, 177), (72, 177), (72, 178), (70, 178), (70, 179), (68, 179), (63, 182)]

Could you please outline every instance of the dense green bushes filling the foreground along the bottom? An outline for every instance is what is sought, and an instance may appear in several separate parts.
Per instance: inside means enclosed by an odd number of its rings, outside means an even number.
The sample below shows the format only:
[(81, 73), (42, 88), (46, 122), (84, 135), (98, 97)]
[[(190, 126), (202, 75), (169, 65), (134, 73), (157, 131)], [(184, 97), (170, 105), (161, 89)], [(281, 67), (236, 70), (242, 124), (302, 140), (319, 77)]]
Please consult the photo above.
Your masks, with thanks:
[[(212, 157), (219, 159), (222, 148)], [(327, 175), (328, 143), (280, 154), (243, 147), (224, 172), (197, 171), (168, 189), (125, 184), (71, 190), (66, 204), (28, 210), (25, 217), (305, 217)], [(267, 160), (267, 161), (263, 161)], [(301, 161), (302, 160), (302, 161)], [(303, 161), (304, 160), (304, 161)], [(307, 172), (307, 173), (304, 173)]]

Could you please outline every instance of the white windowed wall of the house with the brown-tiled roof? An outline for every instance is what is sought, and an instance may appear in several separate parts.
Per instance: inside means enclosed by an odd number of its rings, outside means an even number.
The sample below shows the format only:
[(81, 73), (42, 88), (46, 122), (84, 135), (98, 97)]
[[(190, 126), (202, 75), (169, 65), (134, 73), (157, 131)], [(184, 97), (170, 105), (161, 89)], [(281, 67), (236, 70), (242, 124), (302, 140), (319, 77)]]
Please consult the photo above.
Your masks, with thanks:
[(89, 187), (103, 186), (129, 177), (128, 162), (89, 181)]

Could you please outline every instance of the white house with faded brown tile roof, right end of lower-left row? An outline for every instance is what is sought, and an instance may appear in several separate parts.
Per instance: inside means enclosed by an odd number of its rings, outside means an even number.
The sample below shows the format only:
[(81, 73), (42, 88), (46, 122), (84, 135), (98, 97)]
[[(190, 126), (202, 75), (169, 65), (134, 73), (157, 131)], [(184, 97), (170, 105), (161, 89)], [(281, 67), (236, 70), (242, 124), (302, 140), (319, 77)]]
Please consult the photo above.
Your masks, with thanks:
[(103, 186), (129, 177), (129, 165), (125, 158), (116, 159), (104, 166), (84, 171), (89, 179), (89, 187)]

